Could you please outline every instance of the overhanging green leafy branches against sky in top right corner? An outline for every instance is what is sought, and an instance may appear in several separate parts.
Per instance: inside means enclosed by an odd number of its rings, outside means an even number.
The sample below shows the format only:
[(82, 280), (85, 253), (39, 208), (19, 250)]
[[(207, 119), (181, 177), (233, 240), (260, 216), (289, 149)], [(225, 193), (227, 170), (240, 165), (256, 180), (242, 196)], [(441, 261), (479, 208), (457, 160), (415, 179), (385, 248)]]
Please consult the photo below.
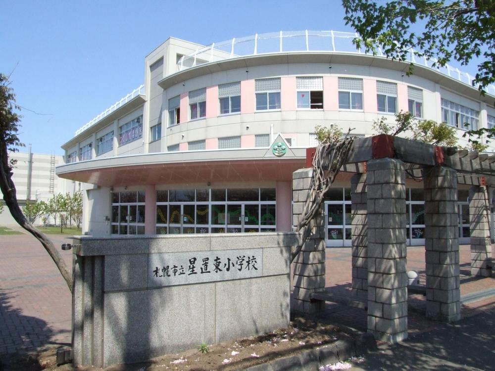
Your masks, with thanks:
[[(473, 85), (495, 82), (495, 1), (493, 0), (342, 0), (346, 24), (359, 34), (356, 46), (367, 52), (381, 47), (387, 57), (415, 55), (445, 66), (479, 58)], [(409, 73), (413, 65), (410, 65)]]

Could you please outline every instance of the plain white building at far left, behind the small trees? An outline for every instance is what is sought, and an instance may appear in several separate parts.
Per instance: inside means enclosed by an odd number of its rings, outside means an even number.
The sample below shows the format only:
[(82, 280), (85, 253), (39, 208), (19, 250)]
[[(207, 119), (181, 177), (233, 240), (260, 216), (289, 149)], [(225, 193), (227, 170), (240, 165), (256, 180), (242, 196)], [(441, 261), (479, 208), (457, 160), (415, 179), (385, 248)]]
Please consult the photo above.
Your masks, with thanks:
[[(11, 152), (9, 158), (17, 163), (14, 166), (13, 181), (19, 206), (28, 201), (48, 201), (53, 194), (74, 193), (79, 190), (78, 182), (59, 178), (55, 167), (64, 163), (63, 156), (32, 152)], [(38, 221), (37, 223), (41, 223)], [(0, 226), (17, 224), (7, 207), (0, 214)]]

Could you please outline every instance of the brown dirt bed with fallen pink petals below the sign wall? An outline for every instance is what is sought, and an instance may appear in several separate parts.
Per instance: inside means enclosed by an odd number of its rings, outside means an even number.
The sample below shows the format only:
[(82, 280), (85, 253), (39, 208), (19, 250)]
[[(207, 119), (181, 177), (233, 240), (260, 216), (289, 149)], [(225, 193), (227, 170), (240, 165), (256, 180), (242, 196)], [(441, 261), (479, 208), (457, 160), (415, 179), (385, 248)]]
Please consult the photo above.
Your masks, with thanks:
[[(290, 356), (298, 352), (318, 348), (337, 340), (349, 337), (339, 327), (315, 322), (310, 319), (296, 319), (288, 328), (281, 328), (255, 337), (207, 345), (208, 352), (189, 349), (177, 354), (154, 358), (145, 363), (114, 365), (106, 371), (159, 371), (159, 370), (243, 370), (250, 366), (269, 362), (273, 359)], [(200, 344), (198, 344), (198, 347)], [(5, 370), (101, 370), (96, 368), (73, 368), (66, 364), (55, 364), (56, 348), (40, 352), (37, 355), (23, 357), (15, 362), (4, 362)]]

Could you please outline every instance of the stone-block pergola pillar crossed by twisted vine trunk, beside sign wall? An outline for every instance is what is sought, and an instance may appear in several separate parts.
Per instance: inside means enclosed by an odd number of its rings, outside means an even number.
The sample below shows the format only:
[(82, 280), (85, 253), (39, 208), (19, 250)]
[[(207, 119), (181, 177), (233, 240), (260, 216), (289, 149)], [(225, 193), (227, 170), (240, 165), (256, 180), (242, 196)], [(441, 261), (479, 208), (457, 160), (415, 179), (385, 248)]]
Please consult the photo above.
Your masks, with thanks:
[[(312, 169), (300, 169), (293, 174), (293, 225), (297, 226), (308, 195)], [(309, 238), (294, 260), (294, 292), (292, 310), (316, 313), (325, 308), (324, 301), (310, 301), (310, 294), (325, 290), (325, 219), (324, 204), (311, 221)]]

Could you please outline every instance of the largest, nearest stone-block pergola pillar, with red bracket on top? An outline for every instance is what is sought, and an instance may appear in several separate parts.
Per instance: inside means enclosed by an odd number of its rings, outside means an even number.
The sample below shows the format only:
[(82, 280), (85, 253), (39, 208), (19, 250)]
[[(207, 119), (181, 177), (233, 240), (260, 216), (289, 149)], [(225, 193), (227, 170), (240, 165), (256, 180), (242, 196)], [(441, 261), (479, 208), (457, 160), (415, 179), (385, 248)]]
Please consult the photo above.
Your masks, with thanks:
[(368, 161), (368, 332), (395, 343), (407, 338), (404, 163)]

